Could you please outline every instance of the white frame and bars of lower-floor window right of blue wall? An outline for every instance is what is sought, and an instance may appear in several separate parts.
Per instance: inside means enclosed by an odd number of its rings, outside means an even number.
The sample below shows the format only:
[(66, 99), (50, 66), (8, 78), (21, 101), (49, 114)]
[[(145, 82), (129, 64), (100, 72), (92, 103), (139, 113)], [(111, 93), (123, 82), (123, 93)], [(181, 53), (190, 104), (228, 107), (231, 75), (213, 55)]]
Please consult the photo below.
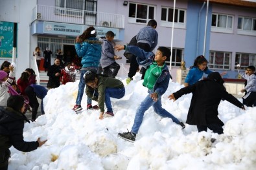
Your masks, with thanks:
[[(212, 58), (212, 53), (214, 54), (213, 59), (211, 59)], [(223, 53), (222, 63), (220, 63), (220, 64), (218, 64), (218, 62), (220, 62), (220, 61), (216, 61), (216, 59), (218, 58), (218, 56), (216, 56), (216, 53)], [(226, 54), (229, 54), (228, 64), (225, 64), (226, 63), (226, 58), (227, 58)], [(232, 60), (232, 52), (223, 52), (223, 51), (213, 51), (213, 50), (211, 50), (210, 53), (209, 53), (208, 67), (209, 67), (209, 69), (213, 69), (213, 70), (231, 70), (231, 60)]]

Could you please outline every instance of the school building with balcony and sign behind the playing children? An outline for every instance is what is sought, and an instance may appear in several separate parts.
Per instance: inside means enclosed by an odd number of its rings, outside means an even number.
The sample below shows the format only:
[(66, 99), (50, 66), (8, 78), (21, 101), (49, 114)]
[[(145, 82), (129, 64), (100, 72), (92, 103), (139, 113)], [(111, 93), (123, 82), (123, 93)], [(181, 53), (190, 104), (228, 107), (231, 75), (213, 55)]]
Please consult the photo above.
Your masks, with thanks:
[[(75, 37), (91, 25), (97, 37), (111, 30), (115, 43), (126, 44), (150, 19), (156, 19), (157, 47), (172, 48), (168, 64), (173, 81), (181, 61), (189, 69), (196, 56), (204, 55), (209, 69), (226, 71), (227, 81), (239, 82), (236, 65), (242, 69), (256, 65), (255, 9), (255, 2), (240, 0), (2, 0), (0, 61), (11, 59), (4, 35), (12, 34), (8, 28), (13, 23), (17, 23), (16, 74), (20, 75), (36, 65), (35, 47), (42, 51), (49, 47), (53, 54), (62, 49), (75, 56)], [(128, 70), (126, 58), (117, 62)]]

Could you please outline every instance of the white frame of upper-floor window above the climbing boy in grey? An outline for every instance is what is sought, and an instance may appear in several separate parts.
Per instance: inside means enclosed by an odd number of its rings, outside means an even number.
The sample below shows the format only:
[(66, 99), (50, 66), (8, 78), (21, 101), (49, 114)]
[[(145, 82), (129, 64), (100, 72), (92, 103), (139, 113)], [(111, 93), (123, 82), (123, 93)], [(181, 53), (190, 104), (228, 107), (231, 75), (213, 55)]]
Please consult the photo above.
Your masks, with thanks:
[[(135, 15), (134, 17), (131, 17), (131, 14), (130, 14), (132, 5), (135, 5), (135, 14), (132, 14), (132, 15)], [(139, 15), (137, 13), (138, 5), (147, 6), (146, 7), (147, 8), (146, 19), (145, 18), (137, 17)], [(153, 14), (150, 14), (150, 8), (154, 9)], [(150, 16), (153, 16), (153, 17), (150, 17)], [(131, 2), (129, 2), (128, 23), (136, 23), (136, 24), (146, 25), (148, 23), (148, 21), (150, 21), (151, 19), (155, 19), (155, 18), (156, 18), (156, 5), (149, 5), (149, 4), (145, 4), (145, 3), (134, 3), (134, 2), (131, 3)], [(145, 22), (142, 23), (142, 22), (139, 22), (139, 21), (145, 21)]]

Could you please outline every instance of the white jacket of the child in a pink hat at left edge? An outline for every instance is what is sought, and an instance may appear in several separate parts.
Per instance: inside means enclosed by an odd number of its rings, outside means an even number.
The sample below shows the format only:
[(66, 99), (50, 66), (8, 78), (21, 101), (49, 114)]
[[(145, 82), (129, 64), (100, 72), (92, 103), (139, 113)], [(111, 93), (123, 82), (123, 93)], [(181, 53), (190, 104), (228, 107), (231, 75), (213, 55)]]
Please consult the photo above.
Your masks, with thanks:
[(10, 97), (8, 86), (14, 81), (14, 73), (11, 71), (6, 81), (0, 81), (0, 106), (6, 106), (7, 99)]

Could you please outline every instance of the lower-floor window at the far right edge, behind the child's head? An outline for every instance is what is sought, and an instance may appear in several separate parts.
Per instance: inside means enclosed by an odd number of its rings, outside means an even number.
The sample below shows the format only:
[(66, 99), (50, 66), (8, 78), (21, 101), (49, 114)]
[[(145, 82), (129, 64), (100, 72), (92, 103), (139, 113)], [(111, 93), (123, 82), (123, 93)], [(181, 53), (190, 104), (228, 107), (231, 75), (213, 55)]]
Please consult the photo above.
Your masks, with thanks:
[(236, 53), (235, 54), (235, 69), (237, 65), (240, 65), (241, 69), (245, 70), (248, 66), (256, 65), (256, 54), (244, 54), (244, 53)]

